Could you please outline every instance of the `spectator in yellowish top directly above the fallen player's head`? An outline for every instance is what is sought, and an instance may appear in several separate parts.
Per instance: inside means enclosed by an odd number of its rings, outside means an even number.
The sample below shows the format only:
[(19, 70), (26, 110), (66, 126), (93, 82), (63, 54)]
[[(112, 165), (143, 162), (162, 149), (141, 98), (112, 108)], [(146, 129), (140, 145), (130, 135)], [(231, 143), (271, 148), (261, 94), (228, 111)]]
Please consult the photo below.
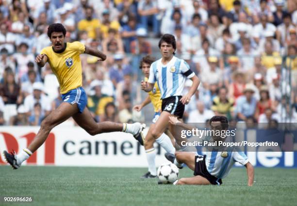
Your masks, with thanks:
[(228, 98), (228, 90), (226, 87), (220, 87), (218, 95), (214, 97), (213, 105), (211, 110), (214, 111), (215, 115), (224, 115), (228, 119), (234, 116), (234, 100)]

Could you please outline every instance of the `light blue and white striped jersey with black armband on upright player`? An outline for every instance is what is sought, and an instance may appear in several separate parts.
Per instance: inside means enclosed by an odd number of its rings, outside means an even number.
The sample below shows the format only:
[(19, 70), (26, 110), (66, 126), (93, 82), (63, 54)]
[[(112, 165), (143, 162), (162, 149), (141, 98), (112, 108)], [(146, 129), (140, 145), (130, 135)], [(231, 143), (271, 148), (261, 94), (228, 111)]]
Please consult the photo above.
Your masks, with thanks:
[(194, 77), (189, 64), (175, 56), (166, 65), (162, 58), (155, 61), (149, 68), (149, 83), (157, 81), (161, 91), (161, 99), (170, 96), (181, 96), (186, 78)]

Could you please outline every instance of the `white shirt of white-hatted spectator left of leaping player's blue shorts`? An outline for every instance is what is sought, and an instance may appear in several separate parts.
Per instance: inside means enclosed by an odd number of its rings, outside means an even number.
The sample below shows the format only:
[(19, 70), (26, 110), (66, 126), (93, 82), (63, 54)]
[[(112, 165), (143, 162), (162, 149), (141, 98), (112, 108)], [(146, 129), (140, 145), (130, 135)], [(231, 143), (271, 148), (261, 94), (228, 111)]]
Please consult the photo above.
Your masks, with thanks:
[(28, 95), (25, 100), (24, 100), (24, 106), (25, 106), (25, 110), (27, 112), (29, 111), (33, 111), (34, 109), (34, 104), (39, 102), (41, 105), (41, 110), (43, 111), (50, 111), (51, 110), (51, 106), (50, 106), (50, 101), (49, 98), (44, 95), (41, 94), (40, 99), (37, 100), (33, 97), (33, 95)]

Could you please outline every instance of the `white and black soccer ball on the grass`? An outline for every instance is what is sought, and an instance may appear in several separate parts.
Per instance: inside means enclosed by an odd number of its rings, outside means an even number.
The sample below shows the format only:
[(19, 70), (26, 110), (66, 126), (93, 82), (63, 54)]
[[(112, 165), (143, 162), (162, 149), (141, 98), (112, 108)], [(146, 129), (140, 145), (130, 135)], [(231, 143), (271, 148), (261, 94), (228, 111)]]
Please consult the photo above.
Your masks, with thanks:
[(166, 163), (158, 168), (157, 175), (163, 184), (173, 183), (179, 177), (179, 168), (172, 163)]

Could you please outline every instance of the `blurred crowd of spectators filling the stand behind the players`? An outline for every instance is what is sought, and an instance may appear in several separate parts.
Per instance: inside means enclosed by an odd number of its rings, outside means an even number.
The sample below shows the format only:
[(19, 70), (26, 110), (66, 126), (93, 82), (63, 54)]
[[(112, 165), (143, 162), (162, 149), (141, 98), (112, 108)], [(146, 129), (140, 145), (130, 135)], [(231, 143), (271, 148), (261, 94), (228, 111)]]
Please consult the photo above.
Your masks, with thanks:
[(51, 23), (66, 27), (66, 42), (107, 54), (104, 62), (81, 55), (88, 108), (98, 122), (142, 118), (132, 110), (145, 98), (139, 60), (160, 58), (165, 33), (175, 35), (176, 56), (201, 80), (185, 121), (221, 114), (297, 122), (295, 0), (0, 0), (0, 125), (40, 125), (61, 103), (49, 64), (34, 62), (51, 45)]

